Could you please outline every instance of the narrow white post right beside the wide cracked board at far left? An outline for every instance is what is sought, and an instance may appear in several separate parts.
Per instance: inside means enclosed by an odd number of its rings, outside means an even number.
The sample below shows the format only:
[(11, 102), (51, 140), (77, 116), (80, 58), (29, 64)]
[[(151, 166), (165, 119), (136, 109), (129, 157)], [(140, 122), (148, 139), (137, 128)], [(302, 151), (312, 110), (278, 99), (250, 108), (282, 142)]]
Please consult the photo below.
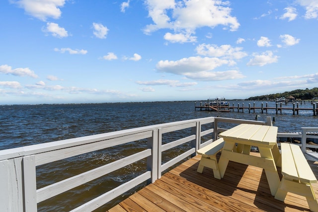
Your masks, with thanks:
[(25, 212), (36, 212), (36, 169), (35, 156), (23, 157), (23, 186), (24, 186), (24, 207)]

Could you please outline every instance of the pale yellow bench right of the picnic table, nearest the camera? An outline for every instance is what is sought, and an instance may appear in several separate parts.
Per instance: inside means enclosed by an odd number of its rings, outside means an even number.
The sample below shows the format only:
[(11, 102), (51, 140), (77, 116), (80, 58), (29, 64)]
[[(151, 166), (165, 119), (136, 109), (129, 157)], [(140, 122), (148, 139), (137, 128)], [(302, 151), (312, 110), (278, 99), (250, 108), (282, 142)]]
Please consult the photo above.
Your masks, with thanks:
[(292, 143), (281, 143), (281, 165), (283, 178), (275, 199), (285, 201), (287, 192), (306, 197), (309, 208), (318, 212), (318, 203), (312, 183), (317, 179), (309, 166), (301, 148)]

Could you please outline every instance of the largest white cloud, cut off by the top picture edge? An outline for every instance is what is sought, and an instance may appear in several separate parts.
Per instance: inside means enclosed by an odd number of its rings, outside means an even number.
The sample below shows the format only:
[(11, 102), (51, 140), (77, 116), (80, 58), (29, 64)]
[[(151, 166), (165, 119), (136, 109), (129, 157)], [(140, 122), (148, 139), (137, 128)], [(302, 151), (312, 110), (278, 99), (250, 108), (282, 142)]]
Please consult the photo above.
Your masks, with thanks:
[(154, 23), (147, 25), (144, 33), (173, 29), (174, 35), (167, 33), (164, 37), (171, 42), (195, 42), (191, 34), (200, 27), (223, 25), (231, 31), (239, 28), (237, 18), (231, 16), (229, 1), (187, 0), (176, 3), (174, 0), (146, 0), (146, 5)]

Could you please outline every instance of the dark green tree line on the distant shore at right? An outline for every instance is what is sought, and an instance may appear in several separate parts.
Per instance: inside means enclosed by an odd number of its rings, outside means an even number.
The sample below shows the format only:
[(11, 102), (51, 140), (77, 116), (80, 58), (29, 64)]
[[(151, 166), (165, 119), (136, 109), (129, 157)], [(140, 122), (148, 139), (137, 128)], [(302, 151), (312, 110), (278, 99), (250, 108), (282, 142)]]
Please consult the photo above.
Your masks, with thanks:
[(269, 99), (276, 99), (285, 97), (288, 98), (289, 96), (293, 96), (296, 99), (313, 99), (315, 97), (318, 97), (318, 87), (314, 87), (312, 89), (306, 88), (304, 89), (297, 89), (292, 91), (285, 91), (283, 93), (275, 93), (275, 94), (268, 94), (268, 95), (262, 95), (262, 96), (253, 96), (249, 97), (248, 100), (269, 100)]

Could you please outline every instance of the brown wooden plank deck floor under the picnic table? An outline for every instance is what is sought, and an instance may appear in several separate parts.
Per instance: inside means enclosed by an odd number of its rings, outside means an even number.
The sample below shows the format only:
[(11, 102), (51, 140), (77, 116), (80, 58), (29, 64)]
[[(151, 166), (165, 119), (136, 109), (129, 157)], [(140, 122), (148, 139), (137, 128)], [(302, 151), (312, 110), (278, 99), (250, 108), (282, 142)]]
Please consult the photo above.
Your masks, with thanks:
[[(224, 178), (218, 180), (212, 169), (204, 168), (202, 174), (196, 171), (199, 160), (198, 155), (185, 161), (109, 212), (309, 211), (302, 196), (288, 193), (284, 203), (275, 200), (261, 168), (230, 161)], [(318, 178), (318, 163), (309, 163)], [(318, 183), (313, 187), (318, 197)]]

